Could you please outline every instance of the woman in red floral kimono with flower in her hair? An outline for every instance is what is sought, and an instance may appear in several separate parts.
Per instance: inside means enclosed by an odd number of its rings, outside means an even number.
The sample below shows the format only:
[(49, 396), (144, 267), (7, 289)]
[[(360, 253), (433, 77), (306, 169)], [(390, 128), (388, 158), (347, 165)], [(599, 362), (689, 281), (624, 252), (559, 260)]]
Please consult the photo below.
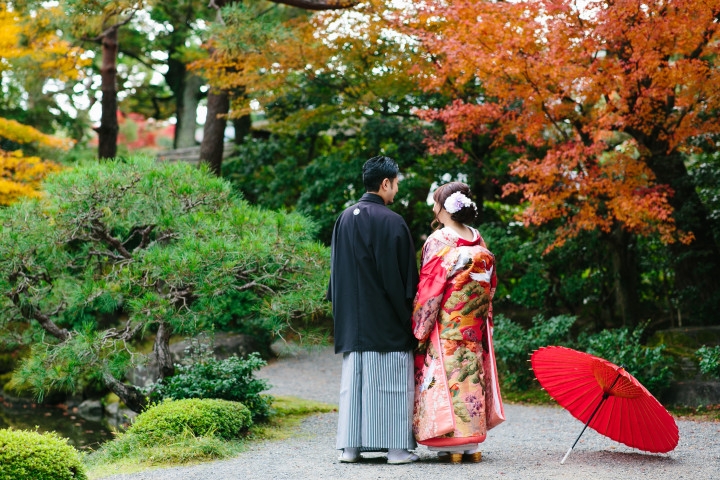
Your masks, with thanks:
[(442, 185), (433, 199), (433, 223), (443, 228), (423, 246), (413, 309), (413, 332), (420, 340), (413, 431), (441, 461), (479, 462), (478, 444), (487, 434), (483, 355), (492, 325), (495, 257), (467, 226), (477, 217), (467, 185)]

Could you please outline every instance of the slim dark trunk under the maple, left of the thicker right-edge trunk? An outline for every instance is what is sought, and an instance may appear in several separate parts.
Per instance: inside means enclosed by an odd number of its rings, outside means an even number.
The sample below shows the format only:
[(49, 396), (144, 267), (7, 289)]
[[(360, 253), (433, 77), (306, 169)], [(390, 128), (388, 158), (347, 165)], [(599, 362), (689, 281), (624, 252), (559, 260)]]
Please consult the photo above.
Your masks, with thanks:
[(637, 323), (639, 279), (637, 252), (631, 242), (632, 234), (616, 227), (609, 238), (615, 311), (622, 319), (623, 326), (634, 326)]

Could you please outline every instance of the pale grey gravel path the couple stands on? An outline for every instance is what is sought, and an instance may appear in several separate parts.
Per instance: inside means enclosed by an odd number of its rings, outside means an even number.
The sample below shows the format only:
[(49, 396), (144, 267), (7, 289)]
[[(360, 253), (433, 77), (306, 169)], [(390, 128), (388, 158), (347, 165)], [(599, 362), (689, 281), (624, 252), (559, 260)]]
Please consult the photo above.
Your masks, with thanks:
[[(337, 403), (340, 357), (331, 348), (291, 351), (260, 374), (270, 393)], [(669, 454), (646, 454), (588, 429), (565, 465), (560, 459), (582, 429), (561, 408), (506, 405), (507, 421), (488, 435), (480, 464), (448, 465), (418, 448), (421, 462), (387, 465), (382, 454), (366, 454), (359, 464), (337, 461), (337, 413), (308, 418), (282, 442), (257, 444), (237, 458), (193, 467), (116, 475), (112, 480), (238, 479), (720, 479), (720, 423), (678, 421), (680, 443)]]

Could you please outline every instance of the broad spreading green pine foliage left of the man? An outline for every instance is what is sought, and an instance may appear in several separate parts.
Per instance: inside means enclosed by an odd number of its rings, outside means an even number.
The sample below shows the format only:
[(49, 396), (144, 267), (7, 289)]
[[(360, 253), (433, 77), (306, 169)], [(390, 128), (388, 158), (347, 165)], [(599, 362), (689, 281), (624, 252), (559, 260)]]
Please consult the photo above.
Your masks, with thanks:
[(133, 342), (161, 325), (193, 336), (247, 322), (269, 338), (327, 315), (314, 224), (250, 206), (206, 169), (128, 158), (45, 188), (0, 210), (0, 336), (33, 345), (16, 380), (37, 392), (122, 379), (144, 360)]

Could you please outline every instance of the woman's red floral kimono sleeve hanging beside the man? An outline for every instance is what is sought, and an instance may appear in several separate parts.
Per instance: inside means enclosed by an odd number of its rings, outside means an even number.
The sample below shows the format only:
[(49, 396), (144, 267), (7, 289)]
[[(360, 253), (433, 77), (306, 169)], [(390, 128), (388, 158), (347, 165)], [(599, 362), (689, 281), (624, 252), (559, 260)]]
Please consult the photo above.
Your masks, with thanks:
[(423, 246), (420, 283), (412, 317), (413, 333), (420, 341), (428, 338), (440, 311), (448, 274), (443, 266), (443, 254), (447, 250), (447, 245), (432, 237)]

